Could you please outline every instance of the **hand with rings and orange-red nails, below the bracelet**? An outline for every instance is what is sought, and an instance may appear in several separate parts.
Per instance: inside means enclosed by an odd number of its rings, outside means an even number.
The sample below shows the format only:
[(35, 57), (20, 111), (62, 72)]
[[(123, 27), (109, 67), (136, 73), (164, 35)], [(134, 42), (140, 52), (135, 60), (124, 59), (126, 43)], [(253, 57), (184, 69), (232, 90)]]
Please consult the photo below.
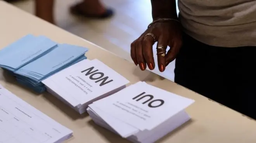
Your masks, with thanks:
[[(155, 68), (153, 48), (157, 42), (157, 62), (160, 72), (172, 62), (182, 46), (182, 30), (179, 22), (156, 22), (131, 43), (131, 59), (144, 71), (148, 66), (150, 70)], [(170, 47), (166, 54), (167, 46)]]

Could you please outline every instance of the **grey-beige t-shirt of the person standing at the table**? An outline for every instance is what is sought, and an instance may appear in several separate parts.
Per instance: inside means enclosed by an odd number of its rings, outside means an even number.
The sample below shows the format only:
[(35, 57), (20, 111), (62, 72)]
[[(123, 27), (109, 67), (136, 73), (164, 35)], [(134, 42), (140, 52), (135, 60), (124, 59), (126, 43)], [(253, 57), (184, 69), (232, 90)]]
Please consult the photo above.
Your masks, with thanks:
[(194, 39), (219, 47), (256, 46), (256, 0), (178, 0), (178, 7)]

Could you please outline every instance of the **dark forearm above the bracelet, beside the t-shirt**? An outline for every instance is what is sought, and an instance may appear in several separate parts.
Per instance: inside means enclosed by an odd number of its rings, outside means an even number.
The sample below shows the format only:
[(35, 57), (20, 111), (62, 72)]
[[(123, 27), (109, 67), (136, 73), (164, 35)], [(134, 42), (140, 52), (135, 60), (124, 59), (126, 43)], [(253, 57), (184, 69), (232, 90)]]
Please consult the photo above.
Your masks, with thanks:
[(177, 19), (176, 0), (151, 0), (152, 18)]

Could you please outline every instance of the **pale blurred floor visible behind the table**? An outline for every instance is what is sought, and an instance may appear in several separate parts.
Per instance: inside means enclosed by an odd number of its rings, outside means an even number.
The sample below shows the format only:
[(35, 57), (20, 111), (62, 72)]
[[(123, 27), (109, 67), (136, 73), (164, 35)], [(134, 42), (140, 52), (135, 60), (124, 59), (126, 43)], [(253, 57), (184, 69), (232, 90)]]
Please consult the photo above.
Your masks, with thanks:
[[(69, 7), (79, 1), (55, 1), (57, 25), (131, 61), (130, 43), (140, 36), (152, 21), (150, 0), (102, 0), (116, 11), (114, 17), (106, 20), (81, 19), (71, 15)], [(29, 13), (34, 13), (33, 0), (16, 2), (14, 5)], [(174, 67), (173, 62), (165, 72), (160, 73), (158, 69), (154, 72), (173, 80)]]

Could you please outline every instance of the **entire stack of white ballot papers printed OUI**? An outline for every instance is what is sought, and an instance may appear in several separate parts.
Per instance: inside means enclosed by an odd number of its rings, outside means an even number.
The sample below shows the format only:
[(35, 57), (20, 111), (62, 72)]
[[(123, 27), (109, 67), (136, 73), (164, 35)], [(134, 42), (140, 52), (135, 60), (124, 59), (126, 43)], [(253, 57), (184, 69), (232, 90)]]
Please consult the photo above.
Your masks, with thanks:
[(96, 124), (134, 143), (154, 143), (190, 119), (194, 100), (145, 82), (93, 102), (87, 108)]

